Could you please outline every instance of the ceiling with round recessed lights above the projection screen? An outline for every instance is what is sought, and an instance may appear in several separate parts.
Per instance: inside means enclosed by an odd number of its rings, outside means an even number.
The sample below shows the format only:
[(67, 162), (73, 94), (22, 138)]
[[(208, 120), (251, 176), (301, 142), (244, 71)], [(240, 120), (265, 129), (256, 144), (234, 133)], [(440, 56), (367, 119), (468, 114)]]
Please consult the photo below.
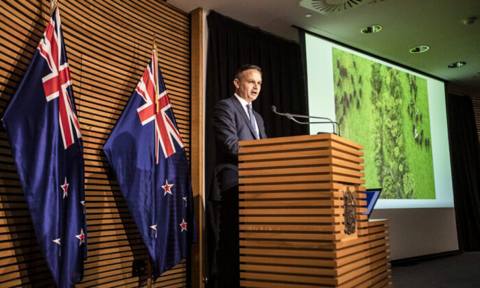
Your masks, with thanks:
[[(339, 0), (328, 0), (339, 2)], [(355, 0), (360, 1), (360, 0)], [(296, 25), (357, 49), (435, 75), (448, 82), (480, 89), (480, 0), (363, 0), (363, 5), (327, 16), (299, 5), (300, 0), (167, 0), (186, 12), (215, 10), (266, 32), (298, 41)], [(372, 2), (372, 3), (370, 3)], [(306, 18), (305, 14), (312, 16)], [(476, 16), (472, 25), (463, 19)], [(375, 34), (360, 29), (383, 25)], [(428, 45), (429, 51), (409, 49)], [(457, 69), (448, 64), (464, 61)]]

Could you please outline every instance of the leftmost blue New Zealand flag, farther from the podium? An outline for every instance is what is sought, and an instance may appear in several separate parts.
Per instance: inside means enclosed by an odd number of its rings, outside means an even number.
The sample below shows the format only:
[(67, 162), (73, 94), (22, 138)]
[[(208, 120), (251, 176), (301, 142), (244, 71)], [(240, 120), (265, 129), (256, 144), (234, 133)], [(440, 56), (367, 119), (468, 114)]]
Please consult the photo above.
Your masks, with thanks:
[(84, 160), (58, 7), (3, 115), (32, 224), (58, 287), (83, 278)]

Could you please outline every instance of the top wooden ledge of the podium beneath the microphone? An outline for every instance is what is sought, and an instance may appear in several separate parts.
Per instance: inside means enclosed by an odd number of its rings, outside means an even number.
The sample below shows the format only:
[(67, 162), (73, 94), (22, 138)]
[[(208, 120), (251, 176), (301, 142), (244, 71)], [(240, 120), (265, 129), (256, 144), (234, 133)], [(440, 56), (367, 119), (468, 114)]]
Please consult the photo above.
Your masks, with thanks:
[(344, 137), (341, 137), (332, 133), (276, 137), (276, 138), (259, 139), (259, 140), (244, 140), (244, 141), (239, 141), (239, 147), (249, 147), (249, 146), (256, 146), (256, 145), (269, 145), (269, 144), (279, 144), (279, 143), (302, 143), (302, 142), (312, 142), (312, 141), (335, 141), (337, 143), (355, 147), (357, 149), (363, 149), (363, 145), (359, 143), (355, 143), (353, 141), (345, 139)]

